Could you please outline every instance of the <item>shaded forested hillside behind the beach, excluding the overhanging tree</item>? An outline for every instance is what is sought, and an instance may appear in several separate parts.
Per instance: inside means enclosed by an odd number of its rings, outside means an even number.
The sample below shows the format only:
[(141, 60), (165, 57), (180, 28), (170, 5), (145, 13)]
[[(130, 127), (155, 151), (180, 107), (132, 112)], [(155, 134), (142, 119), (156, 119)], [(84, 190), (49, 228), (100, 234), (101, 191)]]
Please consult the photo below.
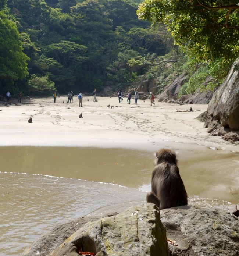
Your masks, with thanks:
[(139, 21), (139, 0), (1, 0), (0, 94), (127, 88), (164, 56), (164, 25)]

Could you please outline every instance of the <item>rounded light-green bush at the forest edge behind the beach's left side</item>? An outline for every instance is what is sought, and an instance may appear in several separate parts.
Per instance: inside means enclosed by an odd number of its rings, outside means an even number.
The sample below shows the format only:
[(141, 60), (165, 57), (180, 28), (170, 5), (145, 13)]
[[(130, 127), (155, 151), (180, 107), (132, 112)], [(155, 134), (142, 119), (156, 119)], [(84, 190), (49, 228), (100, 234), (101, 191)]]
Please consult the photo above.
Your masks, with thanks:
[(28, 80), (28, 85), (29, 92), (32, 95), (50, 95), (52, 92), (56, 91), (55, 84), (50, 81), (48, 75), (39, 77), (36, 74), (33, 74)]

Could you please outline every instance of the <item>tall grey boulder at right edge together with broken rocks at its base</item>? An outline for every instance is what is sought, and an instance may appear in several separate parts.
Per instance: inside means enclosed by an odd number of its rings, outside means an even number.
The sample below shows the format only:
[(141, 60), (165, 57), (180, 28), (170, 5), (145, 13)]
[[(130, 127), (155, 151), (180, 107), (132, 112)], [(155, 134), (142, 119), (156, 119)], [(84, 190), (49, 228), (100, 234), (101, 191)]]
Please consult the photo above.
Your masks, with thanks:
[[(214, 93), (207, 109), (204, 128), (211, 135), (239, 141), (239, 58), (233, 64), (224, 83)], [(230, 136), (226, 136), (231, 132)]]

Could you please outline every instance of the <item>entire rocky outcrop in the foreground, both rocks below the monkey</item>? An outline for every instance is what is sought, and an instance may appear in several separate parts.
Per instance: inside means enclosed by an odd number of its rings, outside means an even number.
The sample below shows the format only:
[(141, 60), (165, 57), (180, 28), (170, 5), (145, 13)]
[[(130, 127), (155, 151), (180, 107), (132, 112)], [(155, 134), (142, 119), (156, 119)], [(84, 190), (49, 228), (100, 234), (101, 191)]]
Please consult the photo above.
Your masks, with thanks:
[(151, 203), (133, 206), (58, 225), (21, 256), (77, 256), (79, 249), (97, 256), (166, 256), (168, 250), (172, 256), (237, 256), (239, 218), (228, 212), (235, 210), (179, 206), (159, 213)]

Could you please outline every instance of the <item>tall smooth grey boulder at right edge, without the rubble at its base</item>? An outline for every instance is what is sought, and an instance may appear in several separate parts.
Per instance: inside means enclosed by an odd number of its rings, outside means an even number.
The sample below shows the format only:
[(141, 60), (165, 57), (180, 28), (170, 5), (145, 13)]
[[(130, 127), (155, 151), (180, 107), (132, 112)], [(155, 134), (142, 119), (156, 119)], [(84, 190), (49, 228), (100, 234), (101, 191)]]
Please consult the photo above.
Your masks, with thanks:
[(218, 120), (231, 131), (239, 130), (239, 58), (233, 64), (224, 83), (214, 93), (208, 108), (206, 126)]

